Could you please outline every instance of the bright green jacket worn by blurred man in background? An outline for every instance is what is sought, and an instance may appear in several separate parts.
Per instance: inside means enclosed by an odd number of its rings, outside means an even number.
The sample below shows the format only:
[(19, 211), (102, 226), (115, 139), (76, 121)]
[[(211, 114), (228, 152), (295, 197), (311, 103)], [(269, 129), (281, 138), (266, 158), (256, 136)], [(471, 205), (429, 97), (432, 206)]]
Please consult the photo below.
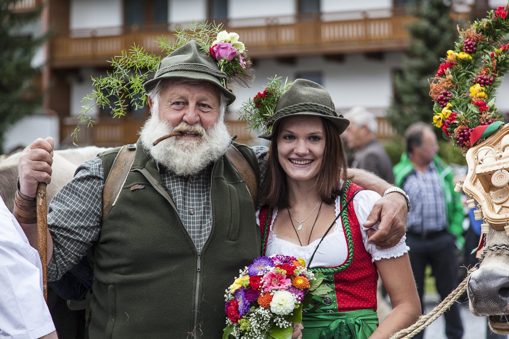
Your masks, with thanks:
[[(445, 203), (447, 204), (447, 220), (449, 222), (448, 231), (456, 237), (458, 247), (463, 246), (465, 239), (463, 238), (463, 204), (461, 203), (461, 195), (454, 191), (453, 169), (435, 155), (433, 162), (437, 167), (440, 184), (444, 192)], [(410, 173), (414, 171), (413, 163), (408, 159), (407, 153), (401, 155), (401, 161), (392, 169), (394, 172), (394, 182), (398, 187), (403, 187), (403, 182)]]

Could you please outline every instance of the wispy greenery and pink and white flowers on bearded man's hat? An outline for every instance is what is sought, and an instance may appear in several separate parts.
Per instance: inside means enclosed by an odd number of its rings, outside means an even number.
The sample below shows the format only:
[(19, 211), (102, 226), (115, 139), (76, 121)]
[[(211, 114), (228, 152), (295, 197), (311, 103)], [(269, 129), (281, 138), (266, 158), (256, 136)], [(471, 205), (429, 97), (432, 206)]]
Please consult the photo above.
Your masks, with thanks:
[[(157, 38), (162, 58), (154, 53), (148, 53), (143, 47), (134, 45), (130, 50), (123, 50), (120, 56), (112, 58), (110, 63), (113, 70), (108, 71), (105, 77), (92, 77), (94, 90), (81, 101), (91, 100), (94, 103), (81, 106), (78, 125), (72, 132), (73, 143), (77, 140), (81, 123), (88, 123), (88, 126), (94, 123), (91, 117), (93, 106), (108, 107), (114, 118), (124, 116), (129, 106), (134, 109), (144, 107), (148, 103), (145, 95), (146, 85), (153, 80), (151, 76), (154, 73), (158, 77), (164, 71), (160, 69), (163, 58), (191, 41), (195, 41), (200, 46), (206, 58), (210, 56), (217, 63), (219, 70), (208, 72), (220, 78), (218, 81), (221, 86), (227, 88), (231, 82), (248, 86), (253, 78), (250, 72), (251, 61), (245, 53), (244, 43), (239, 41), (238, 34), (222, 30), (221, 24), (216, 25), (206, 21), (191, 22), (185, 27), (176, 26), (173, 30), (175, 31), (174, 39)], [(211, 64), (214, 65), (213, 62)]]

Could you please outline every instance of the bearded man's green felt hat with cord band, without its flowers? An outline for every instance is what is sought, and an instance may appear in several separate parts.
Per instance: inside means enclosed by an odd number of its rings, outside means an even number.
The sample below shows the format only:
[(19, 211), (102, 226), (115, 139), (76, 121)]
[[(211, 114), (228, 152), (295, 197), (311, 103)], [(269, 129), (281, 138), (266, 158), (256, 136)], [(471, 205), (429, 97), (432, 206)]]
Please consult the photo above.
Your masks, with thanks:
[(227, 74), (219, 70), (219, 66), (214, 58), (205, 54), (202, 47), (194, 40), (169, 53), (159, 63), (154, 78), (145, 82), (143, 87), (148, 93), (156, 86), (159, 80), (169, 78), (210, 82), (224, 93), (228, 99), (228, 105), (235, 100), (235, 95), (232, 91), (221, 84), (221, 79), (227, 79)]

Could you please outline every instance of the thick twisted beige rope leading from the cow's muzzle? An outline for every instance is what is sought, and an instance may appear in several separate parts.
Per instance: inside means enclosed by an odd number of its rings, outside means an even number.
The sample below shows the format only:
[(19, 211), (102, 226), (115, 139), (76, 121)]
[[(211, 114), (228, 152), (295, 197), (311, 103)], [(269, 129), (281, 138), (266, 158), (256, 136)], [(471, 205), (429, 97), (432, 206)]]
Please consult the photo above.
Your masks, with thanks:
[(428, 327), (432, 322), (438, 319), (442, 314), (444, 314), (451, 305), (453, 305), (456, 300), (466, 291), (467, 289), (467, 283), (468, 283), (468, 277), (470, 274), (477, 270), (478, 265), (475, 265), (467, 272), (467, 276), (461, 284), (454, 290), (453, 292), (449, 293), (449, 295), (442, 300), (441, 303), (439, 303), (435, 308), (431, 310), (430, 313), (426, 315), (422, 315), (417, 319), (417, 322), (413, 324), (412, 326), (408, 328), (404, 328), (401, 331), (393, 334), (389, 339), (408, 339), (413, 337), (415, 334), (419, 333), (426, 327)]

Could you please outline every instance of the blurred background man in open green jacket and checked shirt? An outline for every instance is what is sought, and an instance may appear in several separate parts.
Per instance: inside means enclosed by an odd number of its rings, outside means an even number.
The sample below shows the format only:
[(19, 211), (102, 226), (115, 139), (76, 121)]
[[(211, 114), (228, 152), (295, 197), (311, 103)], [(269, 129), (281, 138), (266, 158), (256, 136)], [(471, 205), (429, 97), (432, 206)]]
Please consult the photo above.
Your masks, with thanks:
[[(457, 286), (456, 247), (463, 244), (463, 206), (460, 194), (454, 191), (451, 167), (437, 155), (437, 137), (431, 127), (425, 123), (411, 125), (405, 133), (405, 142), (406, 153), (394, 166), (394, 178), (412, 202), (406, 241), (424, 307), (422, 294), (427, 265), (431, 265), (437, 277), (437, 290), (442, 299)], [(447, 337), (460, 339), (463, 327), (457, 304), (445, 314), (445, 322)], [(420, 332), (415, 338), (422, 335)]]

